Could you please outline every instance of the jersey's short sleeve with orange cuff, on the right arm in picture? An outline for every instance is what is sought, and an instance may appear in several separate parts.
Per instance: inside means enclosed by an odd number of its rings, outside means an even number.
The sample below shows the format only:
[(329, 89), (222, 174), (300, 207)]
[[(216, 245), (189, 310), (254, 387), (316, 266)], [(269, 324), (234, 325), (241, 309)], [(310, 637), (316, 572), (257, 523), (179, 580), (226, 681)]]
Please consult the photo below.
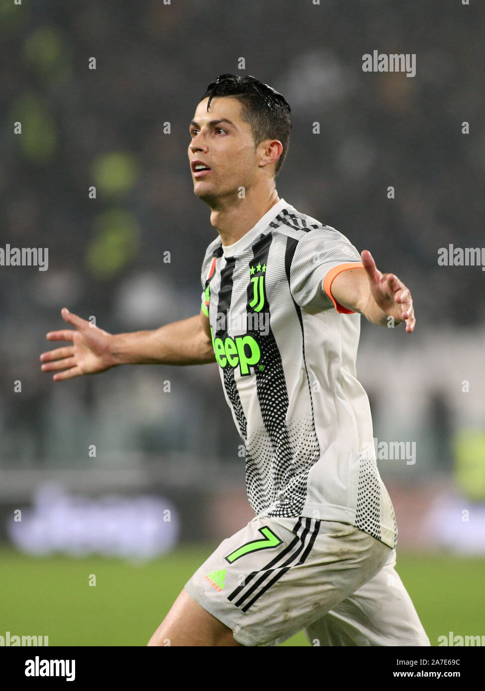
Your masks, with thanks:
[(327, 225), (309, 231), (298, 242), (291, 262), (290, 290), (295, 303), (309, 312), (335, 307), (351, 314), (331, 296), (331, 282), (342, 270), (362, 266), (356, 247), (335, 228)]

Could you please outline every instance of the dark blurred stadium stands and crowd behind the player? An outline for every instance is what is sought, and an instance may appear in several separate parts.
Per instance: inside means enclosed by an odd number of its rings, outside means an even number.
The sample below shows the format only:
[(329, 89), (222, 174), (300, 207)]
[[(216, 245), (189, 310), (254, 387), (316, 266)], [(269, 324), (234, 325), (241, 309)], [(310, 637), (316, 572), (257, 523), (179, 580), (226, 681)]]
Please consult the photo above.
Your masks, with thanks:
[[(39, 363), (64, 306), (109, 332), (199, 312), (214, 229), (188, 125), (239, 73), (291, 104), (280, 196), (412, 290), (414, 334), (363, 319), (358, 359), (376, 445), (415, 445), (378, 460), (401, 544), (485, 552), (484, 522), (462, 517), (485, 498), (485, 274), (437, 261), (485, 244), (484, 30), (473, 0), (1, 4), (0, 245), (48, 247), (48, 270), (0, 267), (0, 538), (46, 496), (166, 497), (183, 541), (251, 517), (215, 365), (60, 383)], [(373, 50), (414, 53), (416, 76), (363, 72)]]

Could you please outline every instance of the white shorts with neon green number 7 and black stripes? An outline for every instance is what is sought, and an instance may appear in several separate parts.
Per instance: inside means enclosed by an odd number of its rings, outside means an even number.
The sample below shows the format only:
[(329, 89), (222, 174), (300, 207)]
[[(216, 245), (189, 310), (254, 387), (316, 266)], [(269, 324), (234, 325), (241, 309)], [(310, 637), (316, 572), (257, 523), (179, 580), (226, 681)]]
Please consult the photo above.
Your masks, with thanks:
[(185, 589), (243, 645), (430, 645), (395, 563), (349, 524), (256, 516)]

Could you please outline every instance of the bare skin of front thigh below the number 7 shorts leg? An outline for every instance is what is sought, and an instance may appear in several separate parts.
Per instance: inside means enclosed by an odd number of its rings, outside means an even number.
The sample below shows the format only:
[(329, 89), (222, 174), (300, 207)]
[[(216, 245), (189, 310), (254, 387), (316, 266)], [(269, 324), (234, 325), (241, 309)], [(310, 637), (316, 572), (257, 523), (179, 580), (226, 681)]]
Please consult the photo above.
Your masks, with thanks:
[(149, 646), (230, 646), (241, 645), (232, 631), (196, 603), (185, 588), (176, 598)]

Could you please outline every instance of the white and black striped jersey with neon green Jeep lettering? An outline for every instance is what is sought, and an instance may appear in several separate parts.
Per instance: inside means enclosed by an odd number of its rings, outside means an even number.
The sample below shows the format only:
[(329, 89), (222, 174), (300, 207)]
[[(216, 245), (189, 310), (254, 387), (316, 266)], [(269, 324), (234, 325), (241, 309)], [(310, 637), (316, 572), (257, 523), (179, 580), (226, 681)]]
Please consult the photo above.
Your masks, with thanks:
[(356, 379), (360, 314), (330, 290), (358, 266), (345, 236), (281, 199), (234, 245), (209, 245), (202, 308), (255, 513), (349, 523), (393, 548), (394, 510)]

